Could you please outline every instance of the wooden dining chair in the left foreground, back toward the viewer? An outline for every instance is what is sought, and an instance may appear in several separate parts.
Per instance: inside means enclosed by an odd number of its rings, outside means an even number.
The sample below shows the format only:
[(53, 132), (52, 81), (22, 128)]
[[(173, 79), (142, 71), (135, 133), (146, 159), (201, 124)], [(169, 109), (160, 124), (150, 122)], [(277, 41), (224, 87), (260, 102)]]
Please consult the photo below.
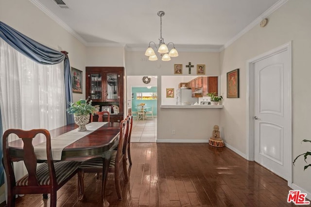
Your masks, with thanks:
[[(17, 135), (23, 142), (23, 158), (16, 158), (10, 154), (9, 135)], [(37, 134), (43, 134), (46, 138), (47, 160), (37, 165), (33, 138)], [(10, 136), (10, 137), (11, 137)], [(51, 151), (51, 136), (46, 129), (33, 129), (29, 131), (21, 129), (8, 129), (3, 134), (2, 139), (3, 158), (2, 163), (7, 179), (7, 206), (15, 206), (15, 197), (17, 194), (38, 194), (42, 193), (43, 198), (51, 194), (51, 207), (56, 207), (57, 190), (60, 189), (72, 176), (77, 173), (80, 162), (76, 161), (57, 161), (53, 162)], [(16, 181), (13, 162), (23, 161), (28, 175), (23, 176)]]

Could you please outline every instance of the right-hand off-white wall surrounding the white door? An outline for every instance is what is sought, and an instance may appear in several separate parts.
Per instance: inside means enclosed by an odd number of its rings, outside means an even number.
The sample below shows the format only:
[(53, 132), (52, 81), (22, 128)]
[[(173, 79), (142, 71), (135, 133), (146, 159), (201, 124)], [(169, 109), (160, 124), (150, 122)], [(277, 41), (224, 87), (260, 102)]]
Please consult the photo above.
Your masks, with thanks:
[[(240, 68), (240, 98), (225, 98), (221, 111), (224, 138), (234, 148), (246, 153), (246, 61), (292, 41), (292, 104), (293, 157), (310, 150), (310, 57), (311, 1), (289, 0), (268, 16), (269, 23), (259, 25), (244, 34), (221, 52), (221, 93), (226, 97), (226, 73)], [(311, 159), (309, 159), (311, 163)], [(306, 163), (299, 159), (293, 167), (294, 184), (311, 193), (311, 169), (303, 171)], [(311, 194), (309, 195), (311, 196)], [(309, 197), (310, 198), (310, 197)]]

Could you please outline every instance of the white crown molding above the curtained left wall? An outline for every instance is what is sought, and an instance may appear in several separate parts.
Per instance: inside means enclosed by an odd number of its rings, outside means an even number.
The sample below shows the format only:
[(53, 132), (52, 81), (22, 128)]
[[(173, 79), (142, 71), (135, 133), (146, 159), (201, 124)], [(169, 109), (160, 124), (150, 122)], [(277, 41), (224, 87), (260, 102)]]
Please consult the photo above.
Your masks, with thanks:
[(36, 7), (38, 7), (42, 12), (44, 12), (47, 16), (50, 16), (57, 24), (63, 27), (67, 32), (72, 34), (75, 38), (77, 38), (83, 45), (86, 46), (86, 41), (76, 32), (74, 32), (65, 22), (63, 22), (60, 18), (55, 16), (50, 10), (48, 10), (39, 0), (29, 0)]

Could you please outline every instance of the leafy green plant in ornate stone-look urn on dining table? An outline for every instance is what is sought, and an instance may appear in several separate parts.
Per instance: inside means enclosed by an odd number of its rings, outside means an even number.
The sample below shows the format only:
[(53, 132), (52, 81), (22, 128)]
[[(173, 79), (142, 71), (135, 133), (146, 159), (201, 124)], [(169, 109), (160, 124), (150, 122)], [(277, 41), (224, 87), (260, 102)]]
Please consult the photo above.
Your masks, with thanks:
[(79, 100), (69, 103), (70, 107), (66, 111), (73, 114), (74, 122), (79, 126), (78, 131), (86, 131), (86, 124), (89, 122), (89, 114), (94, 114), (97, 110), (92, 106), (92, 100)]

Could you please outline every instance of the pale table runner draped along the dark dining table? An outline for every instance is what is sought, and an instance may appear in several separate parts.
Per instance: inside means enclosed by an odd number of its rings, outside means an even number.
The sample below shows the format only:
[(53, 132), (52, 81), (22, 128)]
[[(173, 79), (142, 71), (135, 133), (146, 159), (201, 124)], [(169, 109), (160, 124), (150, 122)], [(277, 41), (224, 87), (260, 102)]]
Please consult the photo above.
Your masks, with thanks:
[[(81, 139), (82, 137), (92, 133), (96, 129), (104, 126), (108, 122), (91, 122), (86, 125), (86, 131), (78, 131), (78, 128), (73, 129), (69, 132), (61, 134), (57, 137), (51, 137), (51, 148), (52, 148), (52, 158), (53, 160), (62, 159), (62, 151), (69, 144)], [(47, 159), (46, 142), (36, 144), (35, 155), (37, 159)]]

